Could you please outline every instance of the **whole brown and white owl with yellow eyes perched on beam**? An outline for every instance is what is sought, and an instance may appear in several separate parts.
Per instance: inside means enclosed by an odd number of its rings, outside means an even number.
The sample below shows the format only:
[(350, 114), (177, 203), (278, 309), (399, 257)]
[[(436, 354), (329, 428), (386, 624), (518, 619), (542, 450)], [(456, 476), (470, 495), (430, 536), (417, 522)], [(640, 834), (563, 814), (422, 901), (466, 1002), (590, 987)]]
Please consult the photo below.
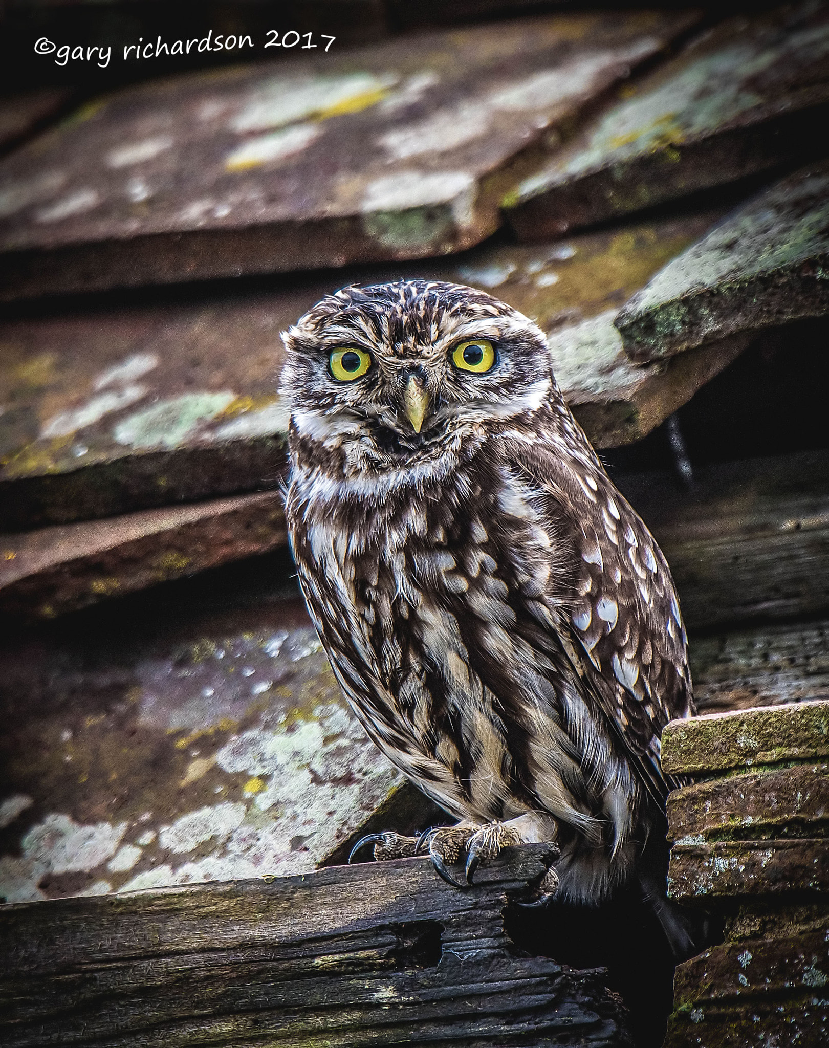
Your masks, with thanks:
[(662, 728), (694, 713), (685, 631), (544, 333), (412, 280), (343, 288), (283, 340), (300, 585), (368, 735), (459, 820), (426, 839), (438, 872), (461, 886), (458, 859), (472, 882), (503, 847), (555, 842), (544, 901), (635, 877), (663, 898), (647, 853)]

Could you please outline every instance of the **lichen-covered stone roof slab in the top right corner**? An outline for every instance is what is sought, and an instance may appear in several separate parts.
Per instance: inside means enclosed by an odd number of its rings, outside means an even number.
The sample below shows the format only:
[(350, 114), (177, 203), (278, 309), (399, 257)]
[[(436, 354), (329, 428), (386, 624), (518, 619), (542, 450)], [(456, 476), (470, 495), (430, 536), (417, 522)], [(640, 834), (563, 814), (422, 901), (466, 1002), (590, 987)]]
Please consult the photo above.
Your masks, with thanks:
[(703, 32), (506, 198), (521, 239), (561, 235), (823, 152), (829, 15), (811, 3)]

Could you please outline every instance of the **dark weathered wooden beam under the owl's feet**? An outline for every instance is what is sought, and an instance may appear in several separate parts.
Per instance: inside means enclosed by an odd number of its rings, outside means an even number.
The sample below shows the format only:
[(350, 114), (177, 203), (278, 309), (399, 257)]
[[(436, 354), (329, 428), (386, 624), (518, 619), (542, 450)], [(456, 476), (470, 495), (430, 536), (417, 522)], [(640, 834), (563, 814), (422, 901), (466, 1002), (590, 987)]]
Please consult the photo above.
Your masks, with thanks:
[(3, 1044), (630, 1045), (601, 969), (504, 932), (554, 855), (509, 849), (468, 891), (416, 858), (2, 908)]

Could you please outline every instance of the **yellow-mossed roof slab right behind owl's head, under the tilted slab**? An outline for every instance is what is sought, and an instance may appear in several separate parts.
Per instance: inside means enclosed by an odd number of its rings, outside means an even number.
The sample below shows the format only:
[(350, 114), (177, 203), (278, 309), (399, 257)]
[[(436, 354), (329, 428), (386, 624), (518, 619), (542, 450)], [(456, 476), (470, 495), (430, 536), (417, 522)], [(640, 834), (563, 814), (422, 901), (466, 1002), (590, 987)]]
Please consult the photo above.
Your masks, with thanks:
[(632, 366), (613, 326), (628, 289), (712, 218), (705, 212), (549, 244), (479, 248), (439, 279), (481, 287), (532, 318), (547, 332), (559, 386), (588, 437), (615, 447), (650, 433), (748, 344), (738, 336), (668, 367)]

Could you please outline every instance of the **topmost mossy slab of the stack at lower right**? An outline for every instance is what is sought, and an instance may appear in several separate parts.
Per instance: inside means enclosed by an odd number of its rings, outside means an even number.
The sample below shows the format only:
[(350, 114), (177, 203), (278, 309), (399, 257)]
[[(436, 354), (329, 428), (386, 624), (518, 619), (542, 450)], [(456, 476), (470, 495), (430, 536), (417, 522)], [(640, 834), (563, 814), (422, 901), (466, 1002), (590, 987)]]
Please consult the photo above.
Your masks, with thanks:
[(662, 733), (662, 768), (672, 776), (826, 757), (829, 700), (707, 714), (671, 721)]

